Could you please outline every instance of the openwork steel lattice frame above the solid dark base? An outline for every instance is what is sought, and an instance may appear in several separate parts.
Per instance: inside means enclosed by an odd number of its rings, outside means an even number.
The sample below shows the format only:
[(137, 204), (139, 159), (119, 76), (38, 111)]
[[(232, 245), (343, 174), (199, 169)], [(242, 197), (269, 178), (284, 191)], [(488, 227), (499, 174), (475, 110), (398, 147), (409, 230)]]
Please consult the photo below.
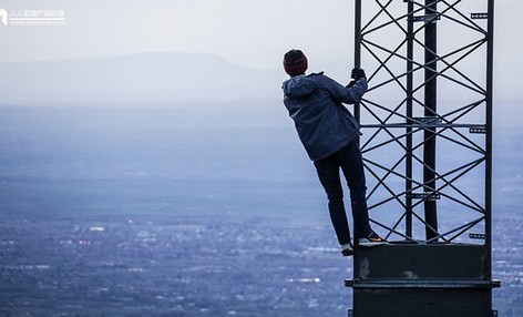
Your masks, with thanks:
[(371, 222), (391, 241), (483, 244), (489, 264), (493, 9), (356, 0), (355, 18), (355, 64), (369, 82), (355, 116)]

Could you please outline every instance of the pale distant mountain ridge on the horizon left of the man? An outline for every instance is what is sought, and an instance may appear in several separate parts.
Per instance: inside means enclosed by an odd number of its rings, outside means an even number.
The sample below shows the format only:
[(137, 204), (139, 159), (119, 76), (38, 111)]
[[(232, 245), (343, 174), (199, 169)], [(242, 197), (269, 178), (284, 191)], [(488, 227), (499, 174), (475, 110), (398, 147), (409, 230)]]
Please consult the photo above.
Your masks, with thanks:
[(285, 74), (211, 54), (140, 53), (0, 63), (2, 104), (143, 103), (265, 98)]

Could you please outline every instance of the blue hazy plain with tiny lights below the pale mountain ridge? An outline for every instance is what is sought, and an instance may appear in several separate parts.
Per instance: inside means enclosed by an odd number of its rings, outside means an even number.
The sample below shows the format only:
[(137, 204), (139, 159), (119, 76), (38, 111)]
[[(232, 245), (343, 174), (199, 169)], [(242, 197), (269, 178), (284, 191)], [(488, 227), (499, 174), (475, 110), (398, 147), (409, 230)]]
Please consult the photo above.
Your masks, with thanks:
[[(0, 315), (346, 316), (280, 100), (0, 113)], [(494, 308), (521, 316), (521, 132), (496, 132)]]

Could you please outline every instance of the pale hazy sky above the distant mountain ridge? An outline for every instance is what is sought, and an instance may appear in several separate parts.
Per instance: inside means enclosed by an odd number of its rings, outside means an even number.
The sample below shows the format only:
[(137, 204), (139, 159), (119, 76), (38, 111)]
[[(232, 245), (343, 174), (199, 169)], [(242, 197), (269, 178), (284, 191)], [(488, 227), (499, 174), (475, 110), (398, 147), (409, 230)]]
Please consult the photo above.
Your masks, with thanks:
[[(505, 94), (522, 84), (523, 1), (495, 4), (496, 91)], [(1, 8), (63, 10), (65, 25), (0, 22), (0, 62), (204, 52), (248, 67), (280, 69), (283, 53), (290, 48), (306, 51), (312, 65), (352, 61), (353, 0), (2, 0)]]

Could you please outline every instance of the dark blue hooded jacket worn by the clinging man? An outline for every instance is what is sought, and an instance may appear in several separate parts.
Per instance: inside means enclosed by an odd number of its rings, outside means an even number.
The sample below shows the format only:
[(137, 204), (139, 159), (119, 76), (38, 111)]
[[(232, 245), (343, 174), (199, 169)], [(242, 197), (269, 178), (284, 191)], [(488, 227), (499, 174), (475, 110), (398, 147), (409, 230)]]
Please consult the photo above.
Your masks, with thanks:
[(283, 83), (284, 104), (310, 160), (322, 160), (360, 135), (359, 124), (342, 103), (357, 103), (367, 80), (346, 88), (320, 74), (298, 75)]

